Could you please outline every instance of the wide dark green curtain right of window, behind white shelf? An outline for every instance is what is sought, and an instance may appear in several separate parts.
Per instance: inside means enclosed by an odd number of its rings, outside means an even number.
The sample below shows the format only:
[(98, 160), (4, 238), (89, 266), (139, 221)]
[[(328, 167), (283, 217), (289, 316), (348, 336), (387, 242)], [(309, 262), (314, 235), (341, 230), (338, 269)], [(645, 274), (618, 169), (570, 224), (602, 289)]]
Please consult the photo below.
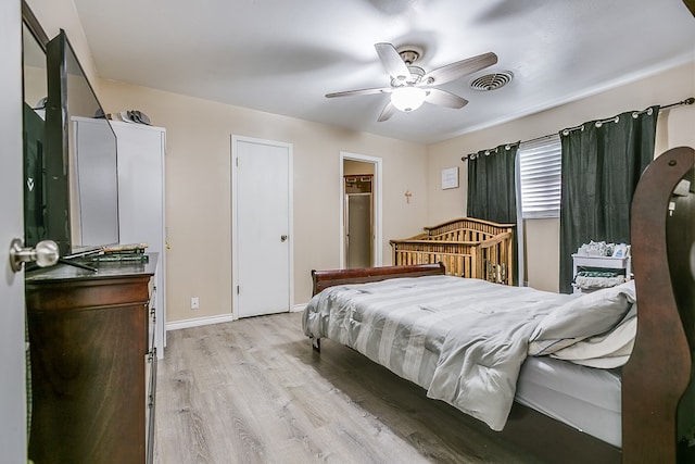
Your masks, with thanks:
[(572, 253), (590, 240), (630, 242), (630, 204), (654, 160), (659, 106), (560, 131), (560, 291), (572, 291)]

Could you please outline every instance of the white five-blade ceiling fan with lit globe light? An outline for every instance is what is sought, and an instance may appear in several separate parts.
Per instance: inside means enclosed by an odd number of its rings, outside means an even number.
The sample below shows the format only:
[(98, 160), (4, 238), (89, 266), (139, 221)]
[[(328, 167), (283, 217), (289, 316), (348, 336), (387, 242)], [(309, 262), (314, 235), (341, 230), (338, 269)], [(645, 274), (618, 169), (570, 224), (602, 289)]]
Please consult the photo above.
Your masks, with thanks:
[(424, 102), (453, 109), (464, 108), (468, 100), (434, 86), (484, 70), (497, 62), (497, 55), (488, 52), (426, 73), (413, 64), (421, 55), (418, 47), (401, 47), (401, 51), (397, 51), (391, 43), (380, 42), (376, 43), (375, 48), (381, 64), (391, 76), (391, 87), (331, 92), (326, 93), (326, 98), (390, 93), (391, 100), (381, 111), (377, 120), (379, 122), (387, 121), (395, 110), (414, 111)]

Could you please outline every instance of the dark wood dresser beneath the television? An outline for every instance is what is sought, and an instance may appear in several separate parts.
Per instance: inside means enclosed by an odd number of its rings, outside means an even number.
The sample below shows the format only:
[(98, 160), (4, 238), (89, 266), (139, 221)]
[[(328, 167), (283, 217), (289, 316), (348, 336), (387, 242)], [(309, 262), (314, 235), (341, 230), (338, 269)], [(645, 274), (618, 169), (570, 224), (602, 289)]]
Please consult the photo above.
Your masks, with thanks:
[(152, 462), (156, 254), (96, 267), (26, 276), (35, 464)]

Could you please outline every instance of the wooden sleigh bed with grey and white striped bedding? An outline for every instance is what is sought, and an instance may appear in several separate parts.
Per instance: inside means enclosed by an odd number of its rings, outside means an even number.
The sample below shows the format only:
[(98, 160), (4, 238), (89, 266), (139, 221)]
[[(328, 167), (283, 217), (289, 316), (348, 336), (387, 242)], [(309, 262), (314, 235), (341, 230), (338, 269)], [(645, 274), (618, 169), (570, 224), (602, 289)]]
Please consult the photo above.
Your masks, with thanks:
[(643, 174), (631, 283), (564, 296), (446, 276), (441, 264), (314, 271), (304, 333), (315, 349), (321, 338), (345, 344), (481, 426), (542, 436), (555, 455), (695, 462), (694, 160), (691, 148), (671, 149)]

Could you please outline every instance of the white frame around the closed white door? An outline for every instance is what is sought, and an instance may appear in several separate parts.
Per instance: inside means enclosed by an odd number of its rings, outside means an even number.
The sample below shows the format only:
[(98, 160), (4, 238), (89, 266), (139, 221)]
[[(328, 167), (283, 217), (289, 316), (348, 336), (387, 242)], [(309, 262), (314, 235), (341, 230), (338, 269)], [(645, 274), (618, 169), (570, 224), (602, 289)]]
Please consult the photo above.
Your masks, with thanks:
[(247, 143), (258, 143), (258, 145), (269, 145), (273, 147), (287, 148), (288, 150), (288, 311), (292, 311), (292, 306), (294, 304), (294, 225), (293, 225), (293, 210), (294, 210), (294, 185), (293, 185), (293, 146), (292, 143), (280, 142), (275, 140), (266, 140), (254, 137), (245, 137), (245, 136), (231, 136), (231, 151), (229, 161), (231, 164), (231, 186), (230, 186), (230, 215), (231, 215), (231, 318), (236, 321), (239, 318), (239, 294), (235, 291), (237, 286), (239, 285), (239, 260), (237, 256), (237, 250), (239, 250), (239, 234), (238, 231), (238, 220), (237, 220), (237, 202), (239, 199), (237, 192), (237, 175), (238, 175), (238, 166), (236, 163), (237, 153), (238, 153), (238, 143), (247, 142)]

